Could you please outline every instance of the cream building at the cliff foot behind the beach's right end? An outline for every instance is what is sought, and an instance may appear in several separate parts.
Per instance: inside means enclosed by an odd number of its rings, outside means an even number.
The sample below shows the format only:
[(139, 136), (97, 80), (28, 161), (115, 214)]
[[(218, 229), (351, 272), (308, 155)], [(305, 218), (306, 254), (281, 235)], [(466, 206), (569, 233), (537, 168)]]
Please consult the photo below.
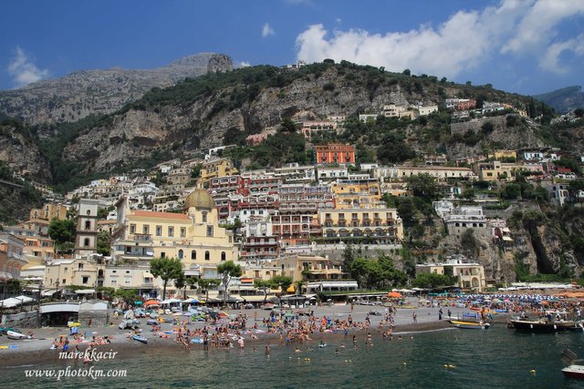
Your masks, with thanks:
[(473, 292), (486, 288), (485, 267), (464, 258), (462, 255), (448, 257), (443, 263), (416, 265), (416, 273), (446, 274), (454, 278), (455, 285)]

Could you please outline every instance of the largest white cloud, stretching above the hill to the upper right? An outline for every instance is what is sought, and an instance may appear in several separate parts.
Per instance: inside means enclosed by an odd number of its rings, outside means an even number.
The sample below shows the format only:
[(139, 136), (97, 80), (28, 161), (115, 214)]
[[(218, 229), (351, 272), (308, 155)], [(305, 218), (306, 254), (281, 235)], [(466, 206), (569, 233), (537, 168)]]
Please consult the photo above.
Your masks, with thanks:
[[(584, 0), (578, 2), (584, 6)], [(438, 26), (419, 26), (408, 32), (385, 34), (349, 29), (334, 30), (329, 35), (322, 25), (308, 26), (297, 36), (297, 59), (308, 62), (325, 58), (345, 59), (392, 71), (409, 68), (416, 74), (456, 77), (480, 67), (498, 52), (515, 54), (511, 47), (523, 47), (529, 37), (524, 30), (518, 30), (518, 26), (527, 31), (533, 15), (540, 15), (542, 9), (549, 10), (553, 16), (539, 23), (542, 34), (537, 41), (550, 39), (553, 26), (580, 12), (580, 6), (560, 6), (557, 3), (573, 4), (554, 0), (503, 0), (481, 10), (459, 11)], [(569, 49), (578, 54), (579, 51), (573, 48), (576, 43), (569, 41), (556, 50), (561, 53)], [(545, 49), (530, 52), (539, 59), (544, 53)], [(547, 56), (553, 58), (554, 53)]]

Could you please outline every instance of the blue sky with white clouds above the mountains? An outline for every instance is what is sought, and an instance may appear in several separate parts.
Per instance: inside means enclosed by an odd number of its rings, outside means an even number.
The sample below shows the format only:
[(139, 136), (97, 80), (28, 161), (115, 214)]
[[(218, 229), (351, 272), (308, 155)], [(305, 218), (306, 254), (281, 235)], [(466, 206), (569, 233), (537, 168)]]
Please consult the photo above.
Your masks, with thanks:
[(584, 85), (584, 0), (5, 0), (0, 89), (200, 52), (349, 60), (521, 94)]

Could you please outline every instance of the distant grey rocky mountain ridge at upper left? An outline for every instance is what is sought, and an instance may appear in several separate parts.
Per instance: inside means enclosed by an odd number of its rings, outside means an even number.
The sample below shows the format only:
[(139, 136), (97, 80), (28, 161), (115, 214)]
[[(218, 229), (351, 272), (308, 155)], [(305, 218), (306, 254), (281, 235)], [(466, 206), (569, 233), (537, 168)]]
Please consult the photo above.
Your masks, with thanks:
[(0, 92), (0, 112), (29, 124), (71, 122), (108, 114), (152, 87), (170, 87), (185, 77), (233, 69), (229, 56), (201, 53), (150, 70), (82, 70)]

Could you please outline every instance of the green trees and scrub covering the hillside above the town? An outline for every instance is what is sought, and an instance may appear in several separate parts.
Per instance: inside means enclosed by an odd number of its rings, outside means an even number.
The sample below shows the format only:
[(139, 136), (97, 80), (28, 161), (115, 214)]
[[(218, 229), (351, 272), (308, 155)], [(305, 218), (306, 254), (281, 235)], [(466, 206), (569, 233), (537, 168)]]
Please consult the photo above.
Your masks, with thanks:
[[(185, 150), (181, 141), (162, 148), (156, 148), (151, 156), (141, 160), (130, 160), (121, 168), (108, 172), (92, 171), (87, 173), (83, 163), (69, 162), (63, 158), (65, 147), (80, 134), (91, 131), (92, 128), (108, 127), (113, 119), (130, 110), (151, 110), (161, 112), (164, 107), (172, 106), (187, 109), (194, 102), (203, 99), (210, 105), (205, 118), (196, 120), (196, 127), (204, 129), (216, 115), (230, 112), (236, 108), (252, 107), (255, 98), (266, 88), (279, 89), (280, 94), (287, 93), (287, 87), (295, 82), (314, 82), (320, 77), (326, 77), (318, 93), (339, 93), (341, 88), (359, 88), (368, 92), (370, 100), (380, 93), (381, 87), (400, 86), (403, 93), (409, 94), (412, 100), (442, 101), (445, 97), (474, 98), (480, 106), (484, 101), (506, 102), (516, 107), (527, 107), (529, 116), (537, 117), (542, 113), (550, 115), (551, 109), (535, 102), (532, 97), (508, 94), (496, 90), (490, 85), (473, 86), (454, 84), (446, 78), (421, 75), (413, 76), (408, 70), (402, 73), (385, 71), (382, 67), (358, 66), (347, 61), (336, 64), (332, 60), (290, 70), (280, 67), (257, 66), (235, 69), (231, 72), (207, 74), (203, 77), (186, 78), (173, 87), (154, 87), (141, 99), (122, 107), (118, 112), (105, 116), (89, 116), (74, 123), (61, 123), (51, 127), (38, 126), (23, 130), (36, 137), (38, 133), (54, 133), (51, 138), (38, 139), (41, 152), (50, 161), (52, 182), (57, 191), (62, 192), (87, 183), (89, 179), (102, 177), (103, 174), (117, 173), (140, 167), (149, 169), (151, 166), (166, 159), (180, 157)], [(387, 90), (385, 88), (384, 90)], [(310, 91), (314, 93), (315, 91)], [(454, 95), (454, 96), (453, 96)], [(365, 101), (363, 107), (370, 102)], [(283, 118), (291, 118), (302, 107), (288, 107), (282, 112)], [(351, 107), (355, 112), (349, 112), (346, 129), (339, 134), (324, 135), (313, 139), (313, 144), (328, 140), (354, 144), (357, 148), (359, 162), (379, 161), (381, 163), (396, 163), (414, 156), (412, 142), (431, 143), (437, 151), (443, 152), (449, 145), (464, 142), (474, 145), (480, 142), (485, 134), (465, 134), (452, 136), (450, 134), (450, 115), (447, 112), (433, 114), (427, 118), (409, 121), (397, 118), (380, 118), (377, 122), (360, 123), (357, 110), (362, 107)], [(362, 113), (362, 112), (361, 112)], [(244, 139), (250, 134), (260, 132), (263, 128), (250, 125), (245, 131), (231, 128), (224, 134), (225, 144), (244, 144)], [(545, 129), (540, 136), (551, 137)], [(483, 137), (483, 138), (482, 138)], [(280, 132), (266, 144), (255, 148), (241, 147), (231, 151), (236, 160), (251, 159), (252, 167), (279, 166), (285, 162), (309, 162), (311, 155), (307, 153), (307, 145), (303, 139), (292, 133)], [(380, 145), (384, 145), (381, 147)], [(184, 146), (184, 145), (183, 145)], [(194, 145), (194, 147), (198, 145)], [(497, 145), (490, 145), (497, 146)], [(276, 158), (277, 157), (277, 158)], [(280, 158), (282, 157), (282, 158)]]

